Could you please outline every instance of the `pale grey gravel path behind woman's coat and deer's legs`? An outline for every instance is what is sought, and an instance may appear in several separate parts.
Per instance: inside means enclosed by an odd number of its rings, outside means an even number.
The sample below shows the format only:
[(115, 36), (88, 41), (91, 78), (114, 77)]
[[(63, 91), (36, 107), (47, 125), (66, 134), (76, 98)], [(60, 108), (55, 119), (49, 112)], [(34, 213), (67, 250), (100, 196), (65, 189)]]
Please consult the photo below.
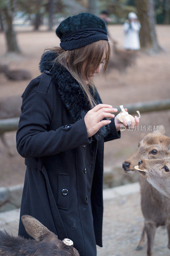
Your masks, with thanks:
[[(0, 230), (18, 233), (19, 209), (0, 213)], [(103, 247), (98, 256), (146, 256), (146, 243), (135, 251), (143, 228), (138, 183), (104, 190)], [(159, 227), (153, 256), (168, 256), (167, 232)], [(90, 256), (90, 255), (89, 255)]]

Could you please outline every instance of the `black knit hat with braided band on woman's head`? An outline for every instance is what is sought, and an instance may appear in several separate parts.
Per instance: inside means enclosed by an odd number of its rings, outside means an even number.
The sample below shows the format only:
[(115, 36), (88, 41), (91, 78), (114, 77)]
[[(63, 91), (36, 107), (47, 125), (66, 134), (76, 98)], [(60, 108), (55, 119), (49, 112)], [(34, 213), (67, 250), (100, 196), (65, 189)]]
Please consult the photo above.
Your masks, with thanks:
[(92, 13), (82, 12), (63, 20), (55, 31), (60, 38), (60, 46), (73, 50), (86, 44), (107, 40), (107, 27), (103, 20)]

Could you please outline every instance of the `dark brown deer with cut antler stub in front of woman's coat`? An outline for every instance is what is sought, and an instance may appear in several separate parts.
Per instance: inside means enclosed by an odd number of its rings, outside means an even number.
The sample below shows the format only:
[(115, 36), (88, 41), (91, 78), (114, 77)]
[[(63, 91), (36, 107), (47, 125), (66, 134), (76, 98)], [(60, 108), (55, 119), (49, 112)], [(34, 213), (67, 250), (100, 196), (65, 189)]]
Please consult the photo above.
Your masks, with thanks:
[(21, 220), (26, 232), (35, 240), (0, 231), (1, 256), (79, 256), (70, 239), (60, 241), (53, 232), (32, 216), (23, 215)]

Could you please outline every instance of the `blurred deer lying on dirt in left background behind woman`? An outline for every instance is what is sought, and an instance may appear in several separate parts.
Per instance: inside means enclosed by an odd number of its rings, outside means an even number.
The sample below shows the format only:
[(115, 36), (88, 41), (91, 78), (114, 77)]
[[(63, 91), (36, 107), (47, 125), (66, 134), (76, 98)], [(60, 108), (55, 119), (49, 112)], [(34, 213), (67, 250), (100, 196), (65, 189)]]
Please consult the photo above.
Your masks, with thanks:
[(28, 70), (25, 69), (15, 69), (10, 70), (7, 65), (0, 65), (0, 73), (4, 72), (5, 76), (10, 80), (27, 80), (31, 79), (31, 74)]

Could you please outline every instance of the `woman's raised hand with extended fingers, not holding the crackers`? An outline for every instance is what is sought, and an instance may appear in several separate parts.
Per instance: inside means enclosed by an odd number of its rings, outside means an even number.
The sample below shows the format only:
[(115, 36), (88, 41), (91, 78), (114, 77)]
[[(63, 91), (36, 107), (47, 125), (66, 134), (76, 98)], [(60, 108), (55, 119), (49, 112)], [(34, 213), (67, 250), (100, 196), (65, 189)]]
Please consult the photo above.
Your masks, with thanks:
[(94, 135), (102, 126), (110, 124), (111, 120), (102, 119), (104, 117), (115, 117), (114, 114), (111, 114), (114, 112), (117, 112), (117, 108), (113, 108), (111, 105), (107, 104), (98, 104), (89, 110), (84, 117), (88, 137)]

